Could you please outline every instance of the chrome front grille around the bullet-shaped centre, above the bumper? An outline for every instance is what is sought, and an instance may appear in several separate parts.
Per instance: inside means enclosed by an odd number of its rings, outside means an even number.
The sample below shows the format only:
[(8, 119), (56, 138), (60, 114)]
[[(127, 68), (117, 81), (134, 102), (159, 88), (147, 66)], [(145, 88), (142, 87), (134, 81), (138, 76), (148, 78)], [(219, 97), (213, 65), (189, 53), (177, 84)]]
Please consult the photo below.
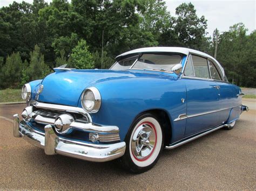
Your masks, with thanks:
[[(70, 124), (70, 129), (82, 130), (84, 133), (95, 133), (95, 135), (98, 136), (98, 141), (101, 143), (120, 141), (117, 126), (93, 124), (91, 116), (82, 112), (82, 110), (80, 110), (81, 108), (67, 107), (67, 109), (62, 109), (61, 105), (39, 102), (32, 104), (30, 107), (32, 107), (31, 113), (25, 120), (32, 120), (31, 122), (35, 123), (35, 125), (37, 123), (38, 127), (49, 124), (55, 126), (55, 121), (59, 116), (69, 114), (75, 119), (75, 121)], [(69, 133), (72, 133), (72, 131)], [(67, 133), (67, 135), (69, 133)]]

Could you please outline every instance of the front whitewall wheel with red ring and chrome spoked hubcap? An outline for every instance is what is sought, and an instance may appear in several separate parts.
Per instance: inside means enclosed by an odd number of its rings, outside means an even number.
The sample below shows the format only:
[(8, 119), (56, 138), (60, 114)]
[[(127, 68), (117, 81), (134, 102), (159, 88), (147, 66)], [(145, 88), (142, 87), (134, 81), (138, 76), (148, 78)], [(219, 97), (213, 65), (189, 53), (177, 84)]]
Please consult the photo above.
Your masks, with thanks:
[(142, 173), (152, 168), (163, 150), (163, 131), (152, 114), (138, 117), (126, 136), (126, 151), (120, 158), (121, 165), (133, 173)]

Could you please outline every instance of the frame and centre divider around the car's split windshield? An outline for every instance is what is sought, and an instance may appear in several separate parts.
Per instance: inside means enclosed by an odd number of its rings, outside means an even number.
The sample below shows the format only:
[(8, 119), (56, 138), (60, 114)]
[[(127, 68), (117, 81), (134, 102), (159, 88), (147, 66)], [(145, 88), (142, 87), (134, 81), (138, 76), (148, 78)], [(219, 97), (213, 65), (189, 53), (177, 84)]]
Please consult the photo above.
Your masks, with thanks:
[[(137, 59), (132, 63), (131, 67), (129, 69), (123, 69), (123, 70), (151, 70), (151, 71), (157, 71), (157, 72), (165, 72), (165, 73), (173, 73), (170, 70), (161, 70), (161, 69), (156, 69), (156, 68), (144, 68), (144, 69), (140, 69), (140, 68), (133, 68), (133, 66), (136, 64), (136, 62), (139, 60), (140, 57), (143, 56), (143, 54), (160, 54), (160, 55), (179, 55), (180, 56), (180, 64), (182, 63), (182, 60), (183, 60), (183, 56), (184, 54), (182, 53), (177, 53), (177, 52), (143, 52), (143, 53), (136, 53), (136, 54), (129, 54), (129, 55), (126, 55), (126, 56), (123, 56), (123, 57), (120, 57), (118, 58), (118, 60), (116, 60), (116, 62), (113, 63), (113, 65), (109, 68), (111, 69), (114, 65), (116, 65), (116, 63), (120, 60), (123, 60), (123, 59), (127, 59), (129, 57), (131, 58), (134, 58), (134, 56), (138, 56)], [(179, 64), (177, 63), (177, 64)], [(112, 69), (113, 70), (113, 69)]]

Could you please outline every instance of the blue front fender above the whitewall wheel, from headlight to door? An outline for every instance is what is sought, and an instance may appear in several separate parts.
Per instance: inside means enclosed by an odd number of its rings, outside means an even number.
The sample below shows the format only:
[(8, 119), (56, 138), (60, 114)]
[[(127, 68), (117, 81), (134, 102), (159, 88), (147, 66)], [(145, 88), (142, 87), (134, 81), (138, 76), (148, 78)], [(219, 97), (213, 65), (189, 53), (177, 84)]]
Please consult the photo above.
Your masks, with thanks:
[[(95, 84), (102, 96), (102, 105), (92, 114), (93, 123), (116, 125), (123, 141), (133, 120), (146, 110), (167, 111), (172, 125), (172, 140), (184, 136), (185, 121), (174, 122), (180, 114), (186, 113), (185, 84), (173, 78), (119, 79)], [(177, 128), (179, 126), (179, 128)]]

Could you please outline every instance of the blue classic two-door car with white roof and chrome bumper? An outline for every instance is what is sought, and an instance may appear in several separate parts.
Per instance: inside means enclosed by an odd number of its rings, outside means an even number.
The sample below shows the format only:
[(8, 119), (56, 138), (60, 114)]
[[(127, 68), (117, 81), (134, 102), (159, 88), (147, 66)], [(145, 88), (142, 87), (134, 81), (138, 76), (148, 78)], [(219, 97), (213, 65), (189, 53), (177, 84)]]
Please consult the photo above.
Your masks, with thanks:
[(212, 56), (188, 48), (140, 48), (118, 55), (107, 70), (61, 66), (27, 83), (23, 119), (14, 136), (44, 149), (134, 173), (172, 149), (220, 128), (242, 111), (241, 89), (228, 83)]

